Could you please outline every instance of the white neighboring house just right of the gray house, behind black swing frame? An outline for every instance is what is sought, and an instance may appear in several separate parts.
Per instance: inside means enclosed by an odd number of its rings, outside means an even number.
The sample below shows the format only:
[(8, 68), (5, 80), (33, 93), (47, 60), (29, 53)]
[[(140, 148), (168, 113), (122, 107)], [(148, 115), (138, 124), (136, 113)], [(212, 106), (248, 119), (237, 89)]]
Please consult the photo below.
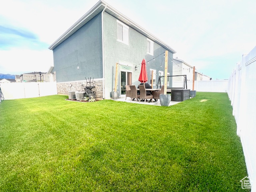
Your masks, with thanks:
[[(186, 75), (187, 81), (193, 80), (193, 67), (178, 58), (172, 59), (172, 75)], [(173, 81), (183, 81), (184, 77), (173, 77)]]

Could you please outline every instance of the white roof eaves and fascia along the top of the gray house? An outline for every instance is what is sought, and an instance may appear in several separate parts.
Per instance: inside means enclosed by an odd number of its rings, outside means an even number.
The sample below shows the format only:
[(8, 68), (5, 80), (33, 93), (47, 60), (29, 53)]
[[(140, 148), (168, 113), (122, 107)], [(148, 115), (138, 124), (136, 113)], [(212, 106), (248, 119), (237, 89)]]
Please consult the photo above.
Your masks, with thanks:
[(160, 44), (164, 48), (166, 48), (168, 51), (172, 53), (176, 53), (174, 49), (172, 49), (170, 46), (150, 34), (147, 30), (130, 20), (128, 17), (124, 16), (120, 12), (118, 12), (116, 9), (112, 8), (110, 5), (108, 5), (106, 2), (100, 0), (96, 5), (94, 5), (84, 16), (82, 16), (74, 25), (72, 25), (62, 36), (60, 36), (52, 45), (49, 46), (50, 50), (53, 50), (56, 48), (59, 44), (61, 44), (64, 40), (66, 40), (68, 37), (70, 37), (74, 32), (76, 32), (78, 29), (80, 29), (82, 26), (84, 26), (88, 21), (90, 21), (94, 16), (102, 12), (106, 8), (106, 12), (122, 22), (124, 22), (126, 25), (130, 26), (134, 30), (138, 31), (139, 33), (143, 34), (147, 38), (153, 40), (154, 42)]

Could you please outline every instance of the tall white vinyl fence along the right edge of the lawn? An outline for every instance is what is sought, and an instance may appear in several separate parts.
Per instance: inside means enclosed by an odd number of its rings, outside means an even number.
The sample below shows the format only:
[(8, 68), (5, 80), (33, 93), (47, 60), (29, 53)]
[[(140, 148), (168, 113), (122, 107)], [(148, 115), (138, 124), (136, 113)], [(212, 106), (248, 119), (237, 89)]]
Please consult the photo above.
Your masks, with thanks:
[(233, 106), (252, 192), (256, 192), (256, 47), (242, 57), (229, 79), (228, 96)]

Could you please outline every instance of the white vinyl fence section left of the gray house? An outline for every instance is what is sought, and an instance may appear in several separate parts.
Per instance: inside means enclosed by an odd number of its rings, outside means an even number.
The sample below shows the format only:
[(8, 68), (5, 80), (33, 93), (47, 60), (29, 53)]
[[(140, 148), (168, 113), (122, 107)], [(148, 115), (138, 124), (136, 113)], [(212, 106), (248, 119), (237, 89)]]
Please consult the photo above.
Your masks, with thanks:
[(0, 87), (6, 100), (57, 94), (56, 82), (1, 83)]

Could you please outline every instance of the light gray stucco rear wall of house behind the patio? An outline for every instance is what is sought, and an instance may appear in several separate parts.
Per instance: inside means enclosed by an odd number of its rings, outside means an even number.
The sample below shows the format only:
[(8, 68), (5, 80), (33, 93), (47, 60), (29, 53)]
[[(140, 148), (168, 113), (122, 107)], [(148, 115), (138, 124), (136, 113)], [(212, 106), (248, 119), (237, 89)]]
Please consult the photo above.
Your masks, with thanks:
[[(104, 12), (104, 62), (105, 62), (105, 92), (106, 98), (110, 98), (110, 93), (114, 90), (115, 85), (115, 74), (116, 74), (116, 63), (118, 63), (118, 86), (117, 91), (121, 93), (123, 76), (126, 76), (126, 84), (128, 84), (127, 76), (130, 74), (132, 80), (130, 83), (138, 86), (140, 82), (138, 81), (140, 75), (141, 62), (144, 58), (146, 61), (151, 60), (149, 63), (146, 62), (147, 74), (148, 74), (148, 84), (151, 84), (151, 74), (153, 75), (153, 87), (156, 88), (158, 83), (158, 76), (163, 76), (164, 74), (164, 52), (165, 48), (149, 40), (146, 36), (128, 27), (126, 24), (115, 18), (114, 16)], [(118, 25), (122, 25), (126, 28), (123, 30), (123, 36), (128, 36), (128, 41), (125, 41), (123, 37), (123, 42), (118, 39)], [(128, 31), (128, 35), (127, 35)], [(119, 31), (120, 32), (120, 31)], [(152, 52), (148, 52), (148, 44), (153, 48)], [(172, 52), (168, 52), (168, 74), (172, 75)], [(135, 66), (138, 70), (135, 70)], [(169, 82), (170, 86), (172, 82)]]

